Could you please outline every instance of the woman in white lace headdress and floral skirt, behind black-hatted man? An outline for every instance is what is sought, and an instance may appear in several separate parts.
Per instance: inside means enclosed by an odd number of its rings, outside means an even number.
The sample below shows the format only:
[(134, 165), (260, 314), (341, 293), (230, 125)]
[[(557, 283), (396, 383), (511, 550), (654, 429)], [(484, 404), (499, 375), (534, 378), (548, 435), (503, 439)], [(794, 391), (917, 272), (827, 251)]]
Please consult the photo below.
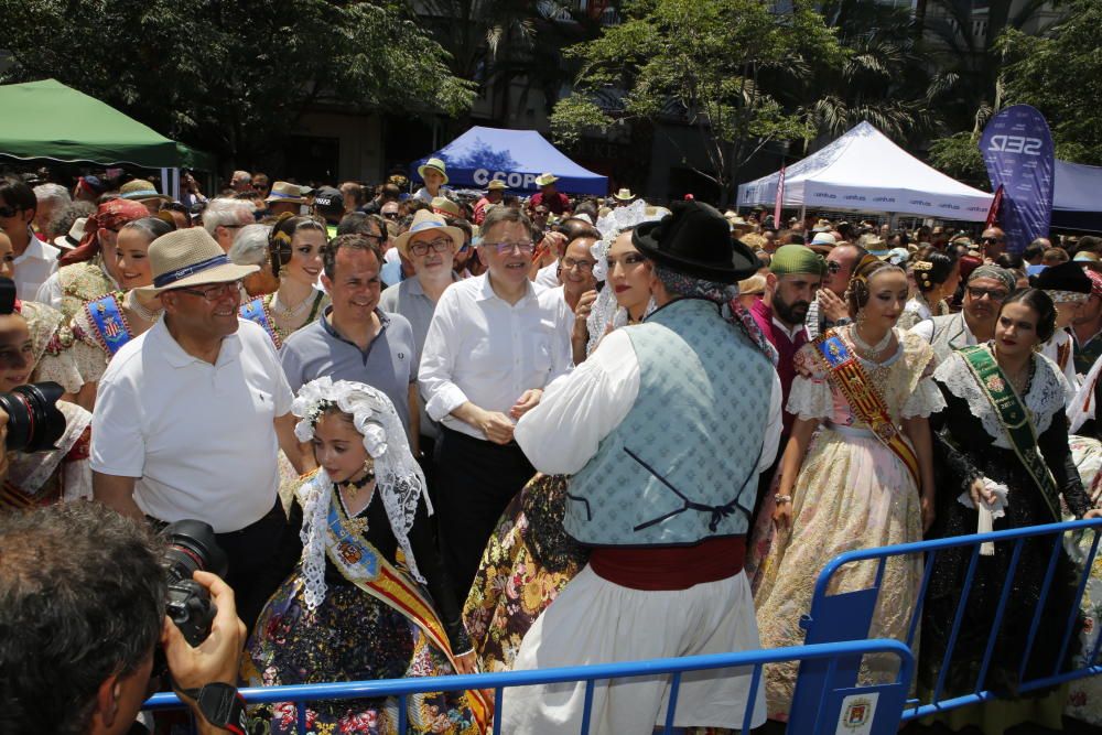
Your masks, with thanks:
[[(608, 331), (640, 322), (653, 310), (650, 261), (631, 245), (631, 230), (647, 219), (645, 208), (640, 199), (597, 221), (603, 239), (592, 248), (594, 278), (605, 287), (596, 300), (580, 301), (586, 354)], [(563, 475), (533, 477), (501, 514), (486, 545), (463, 608), (484, 671), (512, 668), (525, 634), (585, 565), (587, 552), (562, 528), (568, 482)]]

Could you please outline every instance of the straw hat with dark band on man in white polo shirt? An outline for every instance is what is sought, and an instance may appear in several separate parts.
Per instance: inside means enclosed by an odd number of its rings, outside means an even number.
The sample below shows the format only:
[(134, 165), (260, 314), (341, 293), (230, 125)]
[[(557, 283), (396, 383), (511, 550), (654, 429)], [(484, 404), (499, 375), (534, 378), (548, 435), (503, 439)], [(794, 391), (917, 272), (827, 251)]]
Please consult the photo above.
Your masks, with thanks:
[(153, 285), (136, 289), (156, 295), (171, 289), (237, 281), (260, 270), (259, 266), (235, 266), (217, 240), (202, 227), (177, 229), (149, 246)]

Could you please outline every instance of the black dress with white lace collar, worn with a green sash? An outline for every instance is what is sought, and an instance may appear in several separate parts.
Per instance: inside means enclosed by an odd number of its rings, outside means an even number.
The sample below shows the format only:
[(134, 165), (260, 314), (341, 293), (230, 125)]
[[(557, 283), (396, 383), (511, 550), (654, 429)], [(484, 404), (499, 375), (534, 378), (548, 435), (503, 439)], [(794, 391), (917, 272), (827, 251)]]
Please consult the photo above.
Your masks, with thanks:
[[(931, 420), (934, 430), (934, 456), (939, 468), (938, 512), (931, 538), (968, 536), (976, 532), (977, 514), (958, 498), (974, 478), (987, 477), (1005, 485), (1005, 516), (994, 519), (994, 530), (1027, 528), (1061, 519), (1060, 498), (1042, 495), (1033, 476), (1018, 460), (1003, 431), (998, 417), (966, 367), (961, 354), (949, 356), (934, 374), (947, 407)], [(1037, 447), (1052, 473), (1056, 487), (1076, 518), (1090, 509), (1079, 473), (1068, 446), (1068, 419), (1065, 414), (1067, 382), (1056, 364), (1034, 355), (1031, 376), (1023, 398), (1033, 422)], [(1056, 512), (1051, 508), (1056, 508)], [(942, 698), (971, 693), (980, 671), (1000, 595), (1006, 581), (1013, 543), (997, 543), (994, 555), (980, 555), (973, 588), (969, 595), (961, 629), (946, 678)], [(1035, 722), (1060, 728), (1065, 688), (1039, 693), (1016, 694), (1018, 667), (1025, 653), (1029, 627), (1040, 597), (1040, 587), (1052, 552), (1051, 538), (1026, 540), (1022, 545), (1013, 587), (1003, 613), (985, 689), (1014, 696), (1014, 701), (994, 701), (962, 707), (941, 715), (953, 728), (979, 726), (985, 735), (1001, 735), (1018, 723)], [(941, 671), (953, 617), (964, 584), (971, 549), (947, 549), (938, 553), (930, 574), (930, 585), (922, 608), (922, 646), (918, 659), (918, 683), (927, 701)], [(1077, 575), (1072, 561), (1061, 551), (1056, 575), (1034, 642), (1026, 678), (1052, 673), (1056, 656), (1074, 605)], [(1078, 625), (1069, 646), (1070, 657), (1078, 650)], [(1066, 670), (1067, 661), (1061, 662)]]

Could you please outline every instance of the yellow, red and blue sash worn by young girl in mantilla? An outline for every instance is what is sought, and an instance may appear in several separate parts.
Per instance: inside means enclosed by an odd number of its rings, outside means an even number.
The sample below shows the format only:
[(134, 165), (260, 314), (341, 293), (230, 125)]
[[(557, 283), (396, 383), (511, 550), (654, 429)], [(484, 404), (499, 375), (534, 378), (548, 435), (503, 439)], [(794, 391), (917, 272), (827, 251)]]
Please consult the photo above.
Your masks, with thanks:
[[(310, 484), (310, 483), (307, 483)], [(436, 616), (432, 604), (415, 584), (367, 542), (345, 525), (344, 508), (333, 498), (329, 502), (325, 554), (346, 580), (361, 592), (398, 610), (413, 621), (425, 637), (439, 648), (458, 671), (447, 633)], [(488, 726), (493, 707), (478, 690), (467, 691), (467, 706), (482, 731)]]

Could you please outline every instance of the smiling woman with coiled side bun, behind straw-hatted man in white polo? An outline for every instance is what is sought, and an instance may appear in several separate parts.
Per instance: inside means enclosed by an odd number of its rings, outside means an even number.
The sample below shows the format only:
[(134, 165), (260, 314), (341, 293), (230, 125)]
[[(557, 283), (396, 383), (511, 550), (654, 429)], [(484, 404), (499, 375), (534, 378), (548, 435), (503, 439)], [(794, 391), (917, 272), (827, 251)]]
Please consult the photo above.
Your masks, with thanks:
[(325, 242), (325, 225), (313, 217), (282, 214), (268, 234), (268, 258), (279, 288), (244, 302), (240, 314), (262, 326), (277, 349), (329, 303), (316, 288)]

